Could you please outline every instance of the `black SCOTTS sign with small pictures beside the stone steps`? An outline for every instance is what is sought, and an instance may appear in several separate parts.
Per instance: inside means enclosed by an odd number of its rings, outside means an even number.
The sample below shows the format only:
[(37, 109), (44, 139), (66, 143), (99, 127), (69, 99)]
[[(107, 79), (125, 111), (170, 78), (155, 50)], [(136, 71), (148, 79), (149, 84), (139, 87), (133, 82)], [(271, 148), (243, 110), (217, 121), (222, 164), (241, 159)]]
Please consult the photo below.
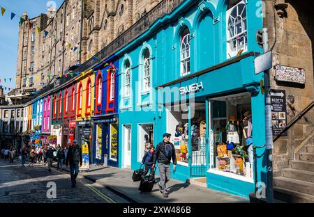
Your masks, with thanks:
[[(270, 90), (270, 95), (273, 136), (277, 136), (287, 126), (285, 90)], [(287, 131), (282, 136), (287, 136)]]

